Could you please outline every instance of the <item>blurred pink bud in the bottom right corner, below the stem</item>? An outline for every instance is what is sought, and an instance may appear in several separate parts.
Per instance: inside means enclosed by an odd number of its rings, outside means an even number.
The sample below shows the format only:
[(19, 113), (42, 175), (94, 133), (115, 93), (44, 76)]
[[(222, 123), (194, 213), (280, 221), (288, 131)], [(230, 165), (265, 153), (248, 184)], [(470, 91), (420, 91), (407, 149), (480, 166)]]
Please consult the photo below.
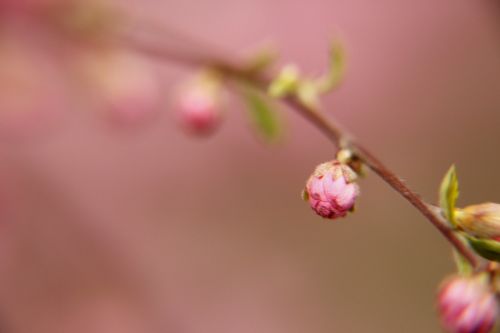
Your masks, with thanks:
[(495, 325), (498, 303), (486, 274), (454, 276), (439, 290), (438, 310), (450, 333), (488, 333)]

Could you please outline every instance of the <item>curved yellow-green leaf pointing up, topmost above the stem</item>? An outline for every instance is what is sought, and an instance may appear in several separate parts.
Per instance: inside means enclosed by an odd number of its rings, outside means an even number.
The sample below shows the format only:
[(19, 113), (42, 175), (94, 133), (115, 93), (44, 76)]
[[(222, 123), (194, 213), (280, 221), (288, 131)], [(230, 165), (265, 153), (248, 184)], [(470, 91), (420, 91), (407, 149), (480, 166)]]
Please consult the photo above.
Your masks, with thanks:
[(333, 41), (330, 49), (330, 68), (327, 74), (318, 80), (321, 93), (335, 89), (342, 82), (346, 72), (346, 54), (339, 41)]

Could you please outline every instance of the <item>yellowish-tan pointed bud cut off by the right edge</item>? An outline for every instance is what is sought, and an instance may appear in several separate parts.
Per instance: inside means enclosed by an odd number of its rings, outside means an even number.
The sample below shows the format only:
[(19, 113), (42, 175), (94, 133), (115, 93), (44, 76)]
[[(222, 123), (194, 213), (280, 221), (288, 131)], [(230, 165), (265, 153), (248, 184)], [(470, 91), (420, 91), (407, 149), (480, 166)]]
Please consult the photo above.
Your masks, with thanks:
[(455, 220), (457, 226), (471, 236), (500, 238), (500, 204), (488, 202), (456, 209)]

